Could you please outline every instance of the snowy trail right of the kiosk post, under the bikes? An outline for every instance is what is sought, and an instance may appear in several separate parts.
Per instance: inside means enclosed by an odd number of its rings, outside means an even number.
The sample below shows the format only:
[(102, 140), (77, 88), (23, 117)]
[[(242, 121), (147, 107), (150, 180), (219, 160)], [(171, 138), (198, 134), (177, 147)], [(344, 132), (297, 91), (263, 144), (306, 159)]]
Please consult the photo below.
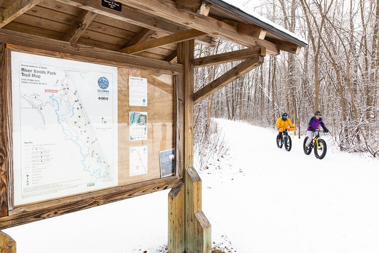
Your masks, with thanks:
[[(291, 136), (287, 152), (271, 130), (218, 122), (235, 161), (221, 165), (226, 172), (202, 176), (214, 240), (227, 235), (236, 252), (379, 251), (377, 160), (331, 149), (319, 160), (304, 154), (303, 139)], [(211, 179), (215, 173), (220, 184)]]

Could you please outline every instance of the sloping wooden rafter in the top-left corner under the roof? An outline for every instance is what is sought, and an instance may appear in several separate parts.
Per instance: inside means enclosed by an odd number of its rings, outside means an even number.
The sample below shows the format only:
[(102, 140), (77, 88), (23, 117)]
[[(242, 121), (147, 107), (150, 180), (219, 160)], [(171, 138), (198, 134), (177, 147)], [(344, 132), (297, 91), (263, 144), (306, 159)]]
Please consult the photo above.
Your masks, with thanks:
[(0, 28), (27, 12), (42, 0), (18, 0), (0, 13)]

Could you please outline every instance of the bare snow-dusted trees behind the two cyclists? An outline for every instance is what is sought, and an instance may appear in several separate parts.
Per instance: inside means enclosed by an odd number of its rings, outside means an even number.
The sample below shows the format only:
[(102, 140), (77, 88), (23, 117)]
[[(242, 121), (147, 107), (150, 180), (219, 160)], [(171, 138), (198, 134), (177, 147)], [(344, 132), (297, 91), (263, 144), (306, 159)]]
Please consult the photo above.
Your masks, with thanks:
[[(248, 6), (249, 3), (247, 3)], [(267, 0), (255, 12), (305, 38), (299, 55), (281, 52), (195, 105), (195, 147), (210, 118), (274, 127), (286, 111), (296, 134), (315, 110), (342, 150), (379, 151), (379, 0)], [(195, 58), (243, 49), (223, 39)], [(195, 91), (239, 62), (195, 69)], [(270, 140), (271, 141), (271, 140)]]

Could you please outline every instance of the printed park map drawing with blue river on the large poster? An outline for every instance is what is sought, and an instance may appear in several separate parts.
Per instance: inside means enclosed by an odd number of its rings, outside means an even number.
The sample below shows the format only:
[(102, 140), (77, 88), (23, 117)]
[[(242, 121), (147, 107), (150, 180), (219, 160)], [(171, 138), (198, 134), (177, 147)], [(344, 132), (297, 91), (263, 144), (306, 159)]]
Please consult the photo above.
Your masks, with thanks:
[[(23, 109), (35, 109), (41, 114), (45, 126), (44, 109), (54, 110), (57, 115), (57, 122), (62, 127), (62, 134), (67, 141), (72, 141), (77, 145), (78, 151), (82, 156), (81, 163), (83, 170), (96, 178), (109, 178), (109, 163), (103, 153), (102, 147), (93, 131), (90, 119), (85, 112), (74, 81), (70, 78), (73, 71), (62, 69), (67, 75), (66, 78), (58, 82), (58, 89), (45, 89), (45, 93), (51, 94), (49, 100), (37, 100), (35, 103), (30, 96), (21, 96), (32, 107), (21, 107)], [(71, 79), (71, 80), (70, 80)], [(70, 81), (69, 81), (70, 80)], [(56, 86), (53, 85), (53, 86)]]

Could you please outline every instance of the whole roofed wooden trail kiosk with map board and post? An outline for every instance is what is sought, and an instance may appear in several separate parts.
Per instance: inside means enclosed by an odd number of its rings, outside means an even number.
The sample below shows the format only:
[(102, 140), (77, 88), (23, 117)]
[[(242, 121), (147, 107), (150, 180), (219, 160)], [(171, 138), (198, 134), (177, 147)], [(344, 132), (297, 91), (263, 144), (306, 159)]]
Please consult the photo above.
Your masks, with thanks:
[[(299, 54), (306, 44), (219, 0), (0, 7), (0, 229), (172, 188), (168, 251), (210, 252), (194, 103), (266, 54)], [(194, 59), (195, 44), (215, 37), (247, 49)], [(194, 93), (195, 67), (241, 60)], [(0, 251), (16, 251), (2, 232)]]

